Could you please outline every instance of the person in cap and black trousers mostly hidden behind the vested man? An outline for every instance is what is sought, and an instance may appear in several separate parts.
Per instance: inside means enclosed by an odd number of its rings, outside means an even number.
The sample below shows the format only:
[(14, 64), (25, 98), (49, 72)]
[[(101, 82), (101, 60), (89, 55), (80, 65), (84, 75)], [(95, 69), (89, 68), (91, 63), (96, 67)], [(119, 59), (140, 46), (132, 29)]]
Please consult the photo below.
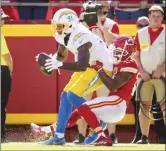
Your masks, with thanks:
[[(141, 30), (144, 27), (149, 26), (149, 19), (146, 16), (138, 18), (136, 22), (136, 26), (138, 30)], [(136, 93), (136, 92), (135, 92)], [(139, 117), (138, 117), (138, 112), (140, 109), (140, 102), (137, 101), (137, 98), (135, 98), (136, 95), (133, 96), (132, 102), (134, 105), (134, 114), (135, 114), (135, 127), (136, 127), (136, 134), (135, 138), (132, 141), (132, 143), (136, 143), (138, 140), (141, 139), (142, 133), (141, 133), (141, 128), (140, 128), (140, 123), (139, 123)], [(156, 104), (156, 95), (154, 94), (153, 96), (153, 101), (152, 104)], [(161, 112), (161, 108), (159, 105), (156, 105), (156, 112)], [(156, 128), (156, 133), (158, 136), (158, 143), (163, 143), (166, 140), (166, 129), (164, 125), (164, 120), (162, 119), (162, 114), (153, 114), (155, 119), (161, 119), (161, 120), (155, 120), (155, 128)], [(164, 133), (163, 133), (164, 132)]]

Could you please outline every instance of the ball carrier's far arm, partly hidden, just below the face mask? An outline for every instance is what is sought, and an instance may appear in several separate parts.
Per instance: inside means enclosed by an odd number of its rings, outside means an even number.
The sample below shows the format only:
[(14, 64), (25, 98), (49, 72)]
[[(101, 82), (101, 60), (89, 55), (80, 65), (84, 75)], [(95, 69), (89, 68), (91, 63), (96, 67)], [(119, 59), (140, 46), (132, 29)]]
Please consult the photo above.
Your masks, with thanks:
[(59, 44), (57, 53), (55, 55), (58, 61), (64, 62), (68, 57), (68, 49), (64, 45)]

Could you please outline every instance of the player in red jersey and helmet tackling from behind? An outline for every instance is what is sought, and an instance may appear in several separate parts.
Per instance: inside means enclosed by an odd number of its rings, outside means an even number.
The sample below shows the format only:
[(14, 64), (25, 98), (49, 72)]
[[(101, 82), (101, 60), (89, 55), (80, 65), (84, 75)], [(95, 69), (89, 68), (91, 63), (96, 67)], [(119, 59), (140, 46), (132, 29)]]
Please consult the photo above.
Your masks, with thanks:
[[(103, 83), (110, 90), (109, 96), (95, 98), (85, 102), (78, 108), (79, 114), (98, 133), (98, 137), (96, 137), (97, 145), (110, 144), (110, 140), (105, 137), (98, 119), (106, 123), (116, 123), (123, 119), (127, 104), (132, 97), (131, 94), (138, 73), (137, 65), (132, 60), (135, 42), (131, 37), (119, 36), (116, 38), (112, 50), (114, 61), (114, 75), (112, 78), (108, 77), (102, 70), (101, 64), (94, 66)], [(93, 140), (93, 142), (96, 140)]]

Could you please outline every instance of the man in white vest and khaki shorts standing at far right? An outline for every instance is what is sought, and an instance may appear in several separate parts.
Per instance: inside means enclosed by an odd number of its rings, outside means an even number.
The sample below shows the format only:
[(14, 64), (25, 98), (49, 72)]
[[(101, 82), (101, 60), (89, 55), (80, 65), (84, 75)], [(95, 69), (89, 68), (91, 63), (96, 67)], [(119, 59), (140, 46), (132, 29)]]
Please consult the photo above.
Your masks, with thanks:
[[(148, 106), (152, 105), (154, 90), (157, 102), (160, 102), (165, 117), (165, 84), (160, 80), (165, 78), (165, 27), (162, 26), (164, 10), (159, 5), (149, 9), (149, 26), (139, 30), (136, 36), (137, 49), (135, 60), (144, 80), (140, 90), (141, 101)], [(154, 59), (155, 58), (155, 59)], [(150, 128), (150, 108), (142, 107), (139, 120), (142, 137), (137, 144), (147, 144)], [(163, 132), (164, 133), (164, 132)]]

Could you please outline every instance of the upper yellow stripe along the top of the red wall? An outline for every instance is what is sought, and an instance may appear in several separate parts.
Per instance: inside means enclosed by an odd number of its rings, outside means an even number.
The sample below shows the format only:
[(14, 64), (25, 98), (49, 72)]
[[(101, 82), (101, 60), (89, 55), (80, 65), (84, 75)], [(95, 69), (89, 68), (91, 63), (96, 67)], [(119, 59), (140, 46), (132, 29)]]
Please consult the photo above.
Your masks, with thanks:
[[(127, 34), (135, 36), (136, 34), (135, 25), (120, 25), (120, 34)], [(25, 24), (7, 24), (2, 28), (4, 36), (10, 37), (28, 37), (28, 36), (52, 36), (51, 25), (25, 25)]]

